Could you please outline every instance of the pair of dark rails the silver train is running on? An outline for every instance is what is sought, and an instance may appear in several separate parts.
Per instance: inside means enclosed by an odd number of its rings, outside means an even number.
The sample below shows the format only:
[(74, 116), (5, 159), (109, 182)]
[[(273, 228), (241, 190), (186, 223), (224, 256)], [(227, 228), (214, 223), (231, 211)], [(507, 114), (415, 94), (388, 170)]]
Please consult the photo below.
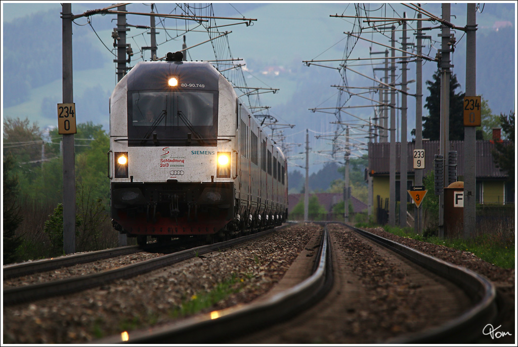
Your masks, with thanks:
[[(166, 267), (168, 265), (182, 262), (186, 259), (190, 259), (209, 252), (231, 248), (239, 243), (247, 242), (249, 240), (253, 240), (255, 238), (268, 235), (279, 228), (281, 227), (265, 230), (260, 233), (242, 236), (236, 239), (195, 247), (180, 252), (174, 252), (172, 254), (153, 256), (152, 258), (147, 259), (145, 261), (140, 261), (137, 263), (128, 264), (100, 272), (83, 274), (82, 276), (69, 277), (61, 280), (46, 281), (30, 285), (12, 287), (4, 286), (3, 304), (4, 306), (16, 305), (22, 302), (34, 301), (57, 295), (66, 295), (78, 291), (87, 290), (89, 288), (102, 286), (104, 284), (113, 282), (118, 279), (137, 276), (138, 274)], [(151, 244), (145, 247), (145, 250), (150, 251), (163, 248), (163, 245)], [(49, 271), (51, 269), (72, 266), (80, 263), (89, 263), (98, 261), (99, 259), (106, 259), (125, 254), (134, 254), (137, 252), (142, 252), (142, 247), (128, 246), (113, 250), (84, 253), (72, 255), (69, 257), (48, 259), (45, 261), (24, 263), (20, 265), (4, 267), (4, 276), (6, 276), (7, 273), (7, 278), (14, 278), (23, 276), (24, 274), (28, 273)]]

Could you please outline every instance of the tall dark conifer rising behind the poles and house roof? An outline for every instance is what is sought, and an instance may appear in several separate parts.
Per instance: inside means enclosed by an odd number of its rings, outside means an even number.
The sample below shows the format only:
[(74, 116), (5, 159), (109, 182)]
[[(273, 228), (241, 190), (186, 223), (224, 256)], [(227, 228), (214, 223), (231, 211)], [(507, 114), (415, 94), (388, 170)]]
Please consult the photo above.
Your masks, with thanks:
[[(440, 139), (440, 114), (441, 114), (441, 71), (437, 69), (433, 81), (426, 81), (430, 95), (426, 97), (425, 108), (428, 116), (423, 117), (423, 138), (430, 140)], [(464, 140), (464, 96), (465, 93), (456, 93), (461, 85), (455, 74), (450, 74), (450, 140)], [(411, 132), (415, 135), (415, 129)], [(482, 140), (482, 131), (477, 131), (477, 139)]]

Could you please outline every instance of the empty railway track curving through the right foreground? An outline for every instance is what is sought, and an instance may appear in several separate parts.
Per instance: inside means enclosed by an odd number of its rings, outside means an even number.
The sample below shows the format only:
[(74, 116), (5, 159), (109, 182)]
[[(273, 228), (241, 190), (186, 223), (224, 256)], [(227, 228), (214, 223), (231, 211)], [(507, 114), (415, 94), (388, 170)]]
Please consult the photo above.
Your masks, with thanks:
[[(128, 341), (131, 343), (329, 342), (318, 339), (308, 341), (304, 340), (304, 336), (313, 336), (314, 339), (314, 336), (336, 334), (336, 332), (325, 330), (326, 325), (334, 325), (329, 323), (331, 319), (334, 319), (335, 322), (341, 321), (342, 325), (350, 323), (353, 326), (354, 321), (349, 323), (347, 321), (349, 313), (359, 312), (359, 315), (356, 315), (356, 317), (375, 314), (362, 312), (361, 309), (354, 309), (353, 306), (349, 308), (347, 306), (340, 307), (343, 304), (343, 300), (340, 297), (345, 297), (346, 301), (354, 301), (354, 296), (361, 296), (361, 290), (356, 290), (355, 292), (348, 289), (352, 286), (350, 282), (354, 281), (347, 277), (351, 276), (351, 271), (346, 271), (347, 276), (344, 277), (343, 265), (344, 262), (348, 261), (345, 259), (347, 256), (344, 258), (343, 254), (338, 254), (340, 253), (339, 250), (334, 249), (336, 244), (340, 242), (339, 240), (342, 236), (340, 233), (343, 233), (343, 230), (338, 232), (335, 230), (334, 233), (329, 233), (326, 228), (326, 232), (321, 238), (322, 243), (318, 247), (320, 249), (318, 260), (314, 263), (317, 266), (309, 278), (292, 286), (290, 289), (244, 307), (214, 311), (161, 328), (135, 331), (132, 332), (131, 338)], [(417, 287), (430, 286), (429, 278), (440, 276), (441, 279), (433, 280), (440, 283), (435, 283), (435, 286), (430, 288), (431, 291), (438, 291), (437, 285), (444, 284), (444, 279), (448, 279), (448, 281), (452, 281), (455, 284), (458, 291), (453, 290), (451, 283), (448, 284), (448, 282), (445, 284), (445, 289), (443, 288), (442, 292), (437, 292), (438, 296), (446, 296), (448, 292), (453, 292), (453, 299), (450, 300), (458, 300), (458, 292), (463, 292), (465, 296), (461, 299), (461, 301), (465, 301), (463, 307), (456, 309), (453, 307), (446, 308), (445, 311), (453, 312), (453, 316), (450, 319), (431, 327), (418, 329), (418, 331), (410, 334), (404, 334), (402, 337), (395, 334), (396, 337), (389, 338), (387, 339), (388, 341), (394, 343), (470, 342), (476, 340), (481, 335), (482, 329), (486, 324), (493, 322), (497, 313), (495, 287), (487, 279), (465, 268), (440, 261), (437, 258), (430, 257), (393, 241), (382, 239), (363, 230), (355, 229), (355, 233), (367, 239), (367, 241), (362, 241), (368, 244), (365, 250), (377, 248), (378, 246), (371, 245), (375, 242), (382, 247), (379, 252), (384, 254), (384, 256), (387, 253), (396, 253), (395, 257), (399, 259), (405, 258), (404, 261), (391, 260), (397, 262), (398, 266), (403, 267), (405, 266), (404, 263), (411, 262), (412, 264), (408, 266), (410, 270), (405, 271), (413, 271), (412, 269), (417, 267), (416, 264), (419, 267), (423, 267), (424, 270), (415, 271), (419, 273), (411, 275), (414, 276), (412, 281), (423, 281), (423, 279), (418, 279), (419, 276), (425, 278), (423, 284), (417, 284)], [(351, 241), (351, 239), (348, 240)], [(433, 299), (442, 299), (443, 301), (440, 302), (448, 302), (448, 299), (445, 298), (434, 297)], [(359, 301), (358, 305), (362, 305), (361, 301)], [(432, 303), (432, 305), (435, 304)], [(458, 312), (455, 313), (455, 310)], [(444, 314), (447, 313), (445, 312)], [(381, 320), (381, 317), (379, 319)], [(258, 327), (265, 328), (266, 330), (257, 331)], [(338, 328), (343, 330), (349, 327), (342, 326)], [(317, 330), (316, 333), (315, 330)], [(320, 335), (318, 330), (321, 330)], [(373, 337), (370, 338), (373, 339)], [(120, 341), (120, 336), (113, 336), (96, 342), (116, 343)], [(332, 342), (337, 343), (336, 341)], [(338, 343), (344, 343), (344, 341), (342, 340)]]

